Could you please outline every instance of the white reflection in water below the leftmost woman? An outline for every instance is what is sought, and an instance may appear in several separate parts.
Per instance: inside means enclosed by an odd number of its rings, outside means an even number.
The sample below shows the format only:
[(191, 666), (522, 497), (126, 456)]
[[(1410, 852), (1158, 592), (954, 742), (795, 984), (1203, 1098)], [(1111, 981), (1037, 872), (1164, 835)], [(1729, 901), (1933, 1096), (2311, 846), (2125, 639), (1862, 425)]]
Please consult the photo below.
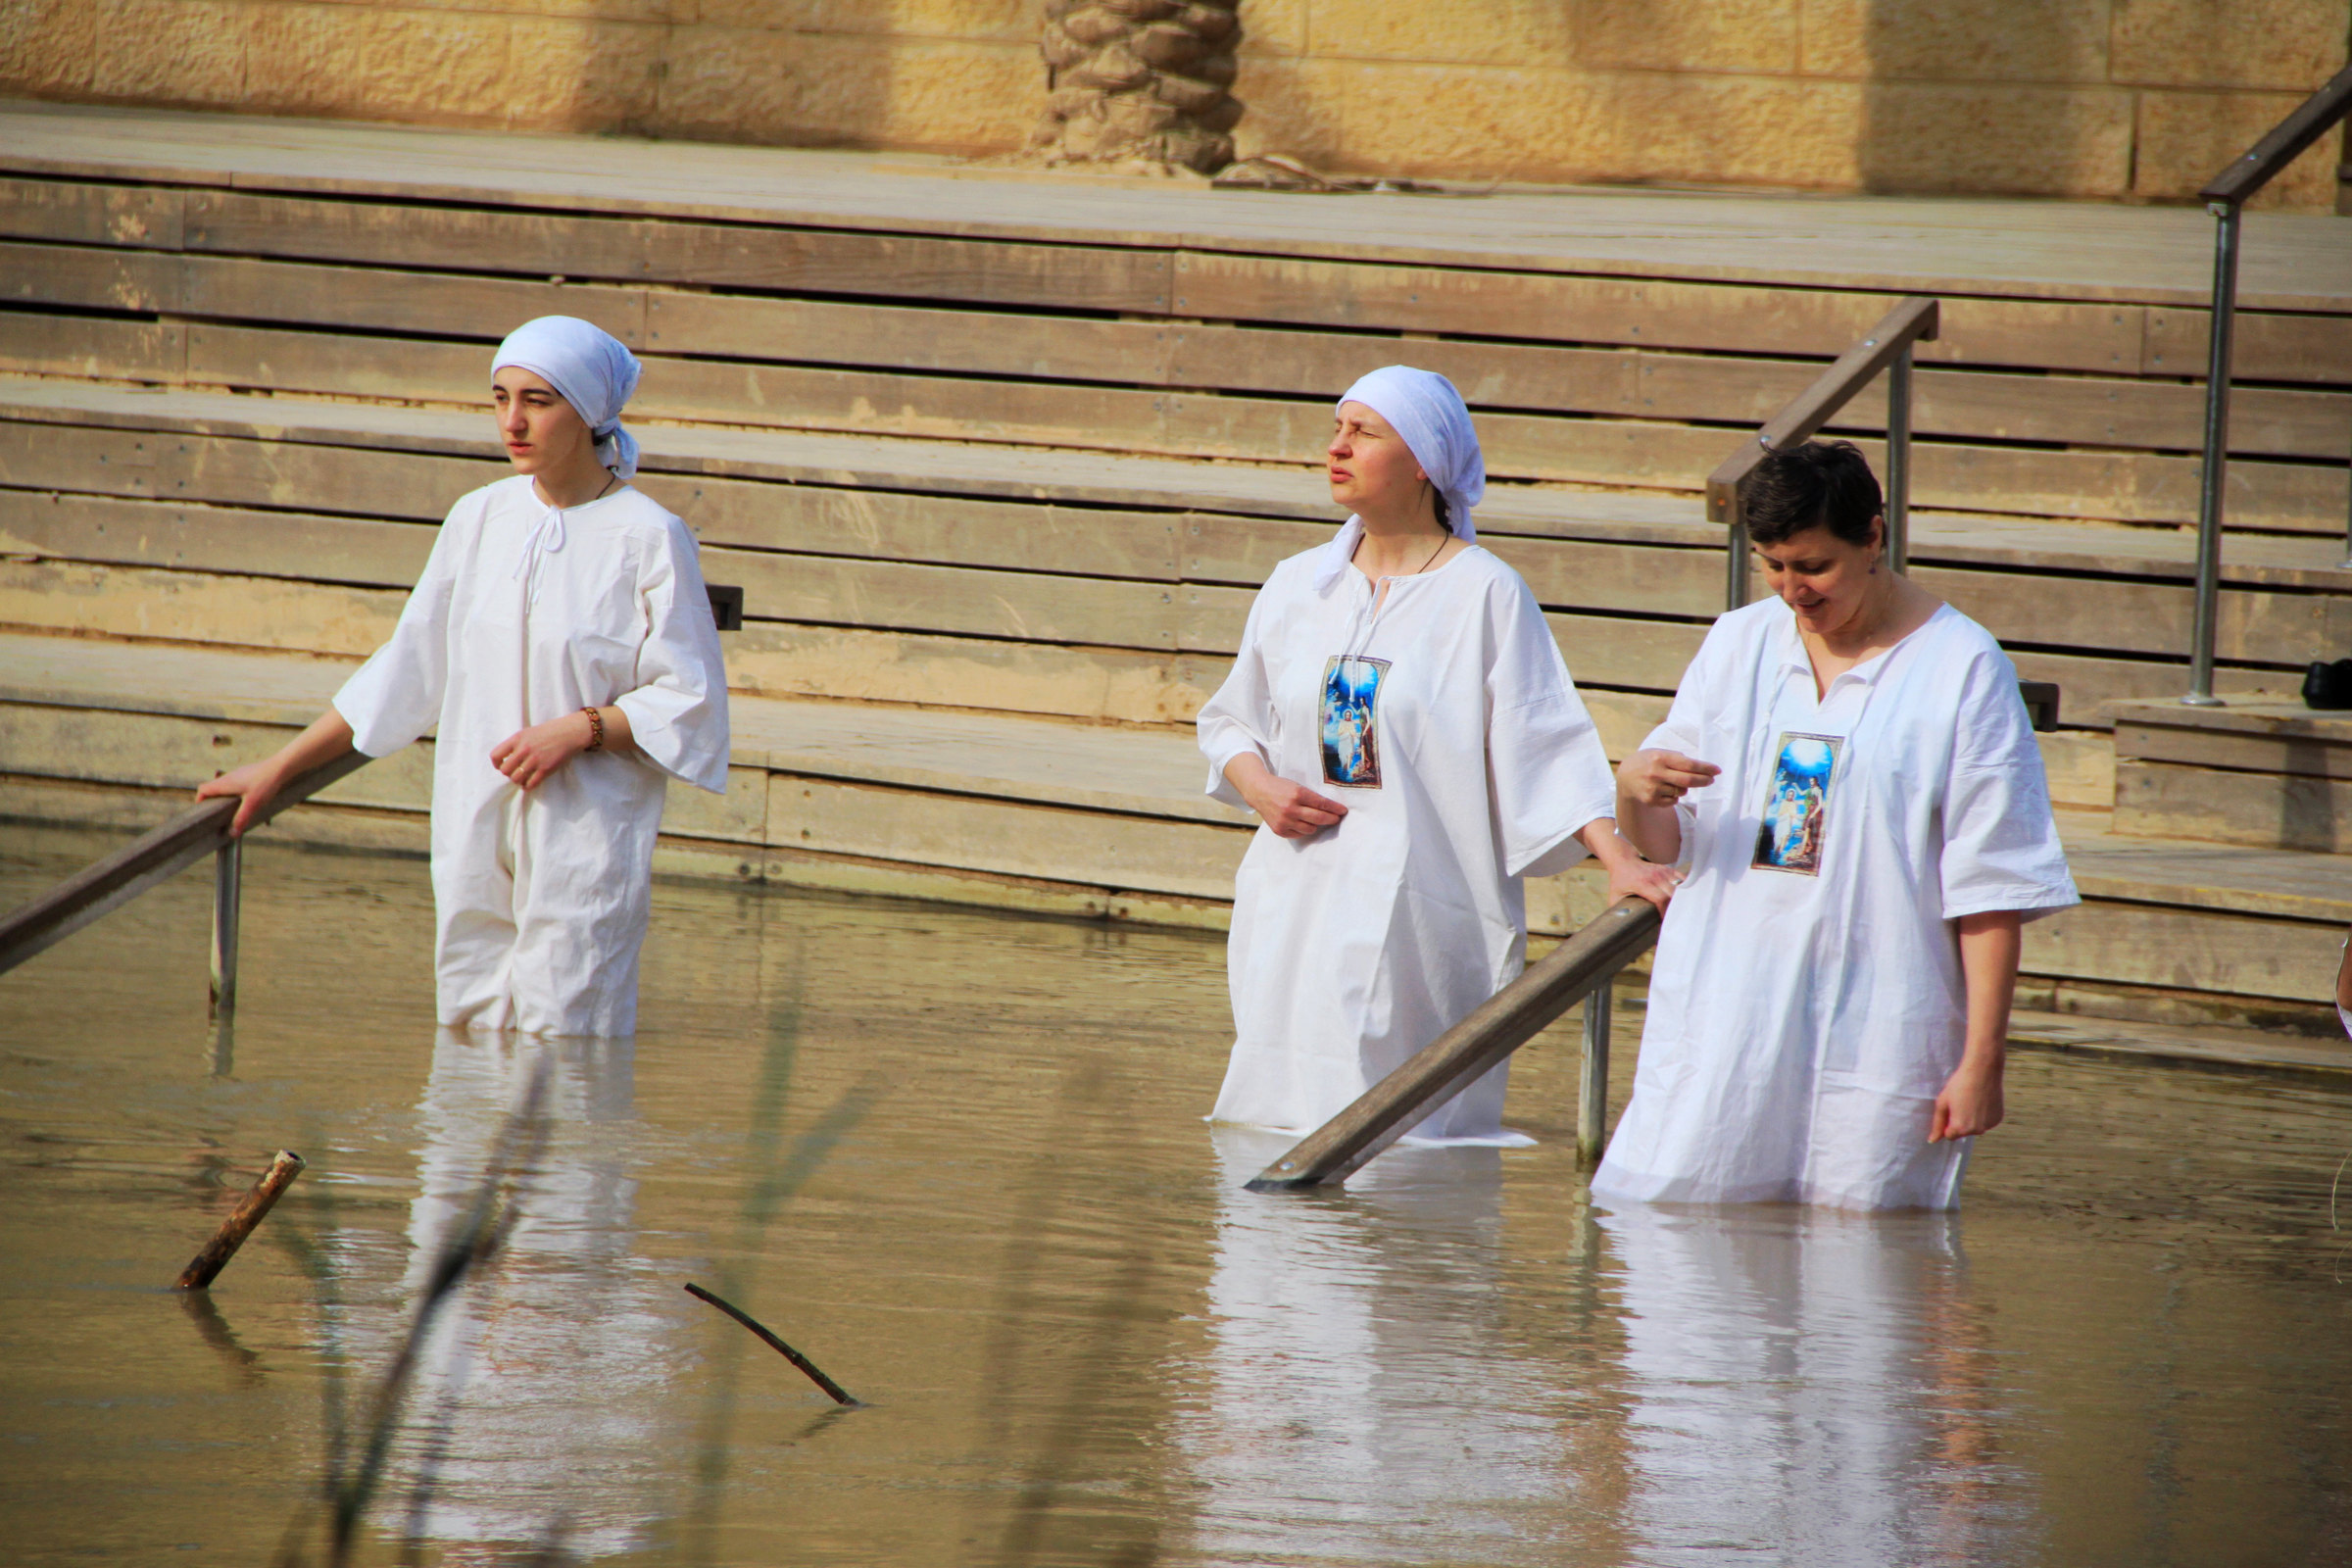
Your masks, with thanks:
[[(673, 1314), (635, 1253), (635, 1044), (442, 1030), (419, 1105), (414, 1300), (546, 1072), (543, 1145), (503, 1253), (426, 1335), (383, 1523), (442, 1542), (642, 1544), (675, 1441)], [(397, 1500), (397, 1502), (395, 1502)]]

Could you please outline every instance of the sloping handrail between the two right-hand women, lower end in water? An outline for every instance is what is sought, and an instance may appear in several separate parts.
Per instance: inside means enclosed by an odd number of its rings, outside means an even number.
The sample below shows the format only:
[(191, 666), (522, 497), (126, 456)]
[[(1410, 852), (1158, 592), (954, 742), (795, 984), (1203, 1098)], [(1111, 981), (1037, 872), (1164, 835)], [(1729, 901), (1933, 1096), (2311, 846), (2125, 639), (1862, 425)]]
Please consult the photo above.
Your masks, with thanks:
[[(1249, 1182), (1251, 1192), (1303, 1192), (1334, 1187), (1362, 1171), (1425, 1114), (1470, 1088), (1489, 1067), (1531, 1041), (1548, 1023), (1578, 1001), (1592, 999), (1585, 1018), (1606, 1020), (1609, 980), (1658, 940), (1658, 907), (1621, 898), (1559, 943), (1536, 964), (1479, 1004), (1458, 1025), (1416, 1051), (1402, 1067), (1355, 1098), (1355, 1105), (1305, 1135), (1289, 1154)], [(1599, 1157), (1597, 1128), (1606, 1124), (1606, 1023), (1585, 1030), (1585, 1095), (1578, 1145), (1588, 1161)], [(1595, 1086), (1595, 1044), (1599, 1084)], [(1588, 1140), (1585, 1131), (1595, 1135)]]

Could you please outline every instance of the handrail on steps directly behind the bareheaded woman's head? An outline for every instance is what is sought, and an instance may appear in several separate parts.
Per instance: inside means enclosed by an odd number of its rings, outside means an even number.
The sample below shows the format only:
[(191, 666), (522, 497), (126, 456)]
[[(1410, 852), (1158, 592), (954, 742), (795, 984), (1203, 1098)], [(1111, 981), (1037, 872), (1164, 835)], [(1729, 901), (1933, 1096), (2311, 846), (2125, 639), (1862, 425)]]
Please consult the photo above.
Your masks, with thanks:
[(1771, 451), (1788, 451), (1813, 437), (1853, 395), (1886, 371), (1886, 559), (1896, 571), (1910, 562), (1910, 371), (1912, 343), (1929, 343), (1943, 324), (1940, 301), (1910, 294), (1879, 317), (1870, 334), (1820, 371), (1813, 386), (1764, 421), (1708, 475), (1708, 517), (1724, 524), (1724, 609), (1748, 602), (1748, 510), (1740, 496), (1748, 475)]

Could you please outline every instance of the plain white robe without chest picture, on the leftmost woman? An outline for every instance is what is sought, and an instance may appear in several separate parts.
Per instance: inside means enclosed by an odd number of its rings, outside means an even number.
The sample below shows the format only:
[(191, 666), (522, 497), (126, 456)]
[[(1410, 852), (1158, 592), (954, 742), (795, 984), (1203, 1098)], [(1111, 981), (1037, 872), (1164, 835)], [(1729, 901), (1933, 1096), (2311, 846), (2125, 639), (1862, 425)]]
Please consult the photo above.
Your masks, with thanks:
[[(727, 670), (684, 524), (635, 489), (562, 512), (524, 475), (473, 491), (334, 708), (369, 757), (437, 726), (440, 1020), (633, 1032), (663, 780), (727, 788)], [(621, 708), (640, 757), (581, 752), (529, 795), (492, 766), (581, 708)]]

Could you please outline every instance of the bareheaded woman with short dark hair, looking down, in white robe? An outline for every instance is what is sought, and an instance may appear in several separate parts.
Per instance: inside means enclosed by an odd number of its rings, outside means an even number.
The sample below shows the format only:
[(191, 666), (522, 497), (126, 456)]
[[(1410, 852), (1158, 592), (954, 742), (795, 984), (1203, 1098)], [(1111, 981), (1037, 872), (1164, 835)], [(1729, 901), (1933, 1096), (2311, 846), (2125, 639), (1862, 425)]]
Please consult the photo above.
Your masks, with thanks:
[(2018, 672), (1886, 564), (1851, 442), (1757, 465), (1722, 616), (1618, 825), (1689, 870), (1595, 1197), (1952, 1208), (2002, 1121), (2023, 922), (2077, 903)]

